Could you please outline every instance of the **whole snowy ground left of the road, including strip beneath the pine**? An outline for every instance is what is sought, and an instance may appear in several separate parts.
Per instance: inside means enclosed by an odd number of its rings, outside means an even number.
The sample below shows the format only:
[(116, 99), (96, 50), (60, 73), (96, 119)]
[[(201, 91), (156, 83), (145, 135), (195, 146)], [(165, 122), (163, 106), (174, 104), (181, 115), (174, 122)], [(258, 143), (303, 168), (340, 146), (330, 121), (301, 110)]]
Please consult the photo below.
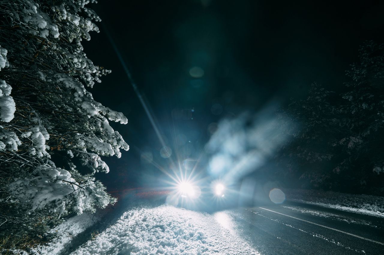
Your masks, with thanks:
[[(13, 254), (260, 254), (238, 235), (230, 213), (176, 208), (164, 204), (162, 196), (148, 194), (122, 199), (115, 216), (111, 209), (74, 216), (51, 230), (57, 236), (48, 244)], [(101, 221), (109, 227), (91, 239)]]

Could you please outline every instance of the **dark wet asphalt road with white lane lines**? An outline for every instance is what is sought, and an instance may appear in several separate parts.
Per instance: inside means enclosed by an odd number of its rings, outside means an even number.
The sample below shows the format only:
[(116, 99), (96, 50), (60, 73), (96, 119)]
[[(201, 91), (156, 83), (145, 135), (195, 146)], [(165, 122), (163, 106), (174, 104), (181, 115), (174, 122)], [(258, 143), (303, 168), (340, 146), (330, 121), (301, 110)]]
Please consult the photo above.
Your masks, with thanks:
[(384, 254), (383, 218), (299, 203), (222, 213), (261, 254)]

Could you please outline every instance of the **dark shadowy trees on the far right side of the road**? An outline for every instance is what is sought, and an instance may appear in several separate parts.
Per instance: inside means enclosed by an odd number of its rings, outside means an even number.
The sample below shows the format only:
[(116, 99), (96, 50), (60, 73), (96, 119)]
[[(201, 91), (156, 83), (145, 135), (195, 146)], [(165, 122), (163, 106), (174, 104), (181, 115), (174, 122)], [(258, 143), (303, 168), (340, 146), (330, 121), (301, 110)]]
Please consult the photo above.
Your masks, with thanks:
[(344, 93), (314, 83), (278, 111), (288, 139), (274, 174), (292, 187), (383, 195), (384, 45), (366, 42), (346, 75)]

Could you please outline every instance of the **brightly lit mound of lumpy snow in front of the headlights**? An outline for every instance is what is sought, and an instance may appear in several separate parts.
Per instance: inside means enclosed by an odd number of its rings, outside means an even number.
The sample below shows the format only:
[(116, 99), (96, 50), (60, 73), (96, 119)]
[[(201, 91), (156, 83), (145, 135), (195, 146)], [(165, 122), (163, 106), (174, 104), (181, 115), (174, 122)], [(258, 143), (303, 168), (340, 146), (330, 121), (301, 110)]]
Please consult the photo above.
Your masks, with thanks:
[(228, 217), (168, 205), (131, 209), (71, 254), (260, 254), (228, 229)]

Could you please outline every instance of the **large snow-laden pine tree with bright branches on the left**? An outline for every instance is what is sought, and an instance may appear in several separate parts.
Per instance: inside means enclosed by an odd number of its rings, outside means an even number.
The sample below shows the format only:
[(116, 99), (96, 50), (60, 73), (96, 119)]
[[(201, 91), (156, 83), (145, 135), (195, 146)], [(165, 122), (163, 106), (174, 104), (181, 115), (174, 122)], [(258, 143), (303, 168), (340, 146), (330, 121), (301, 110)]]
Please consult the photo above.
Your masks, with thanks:
[(127, 118), (86, 90), (110, 72), (83, 52), (100, 21), (89, 2), (96, 0), (0, 3), (2, 235), (41, 234), (37, 225), (115, 201), (93, 175), (109, 171), (100, 156), (129, 149), (108, 123)]

